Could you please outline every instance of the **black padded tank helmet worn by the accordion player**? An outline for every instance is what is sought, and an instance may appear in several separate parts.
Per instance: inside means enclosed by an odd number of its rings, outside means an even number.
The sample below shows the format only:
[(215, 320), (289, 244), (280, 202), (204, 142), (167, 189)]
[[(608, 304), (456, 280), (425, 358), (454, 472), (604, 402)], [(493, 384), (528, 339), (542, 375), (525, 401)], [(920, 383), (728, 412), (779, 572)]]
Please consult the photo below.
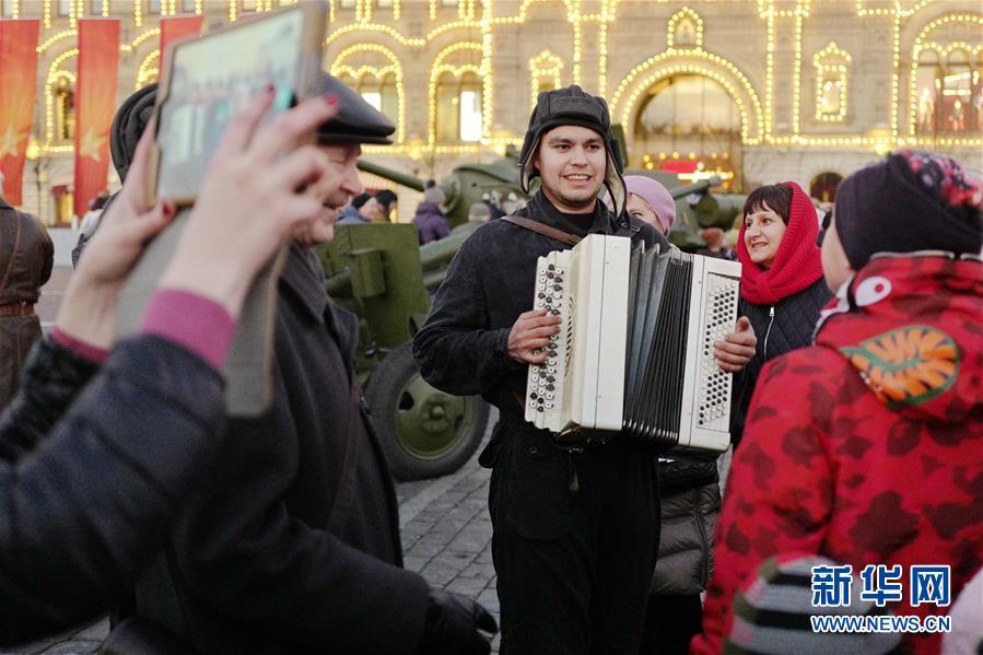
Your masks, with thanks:
[(533, 166), (533, 155), (539, 148), (542, 134), (561, 125), (585, 127), (594, 130), (604, 139), (605, 150), (608, 154), (605, 186), (615, 201), (615, 215), (620, 218), (624, 211), (628, 194), (624, 187), (624, 164), (621, 161), (621, 151), (615, 142), (615, 134), (611, 133), (608, 103), (598, 95), (584, 92), (576, 84), (565, 89), (543, 91), (539, 94), (536, 107), (529, 117), (529, 129), (526, 131), (523, 151), (519, 154), (523, 191), (528, 194), (529, 182), (539, 175), (539, 171)]

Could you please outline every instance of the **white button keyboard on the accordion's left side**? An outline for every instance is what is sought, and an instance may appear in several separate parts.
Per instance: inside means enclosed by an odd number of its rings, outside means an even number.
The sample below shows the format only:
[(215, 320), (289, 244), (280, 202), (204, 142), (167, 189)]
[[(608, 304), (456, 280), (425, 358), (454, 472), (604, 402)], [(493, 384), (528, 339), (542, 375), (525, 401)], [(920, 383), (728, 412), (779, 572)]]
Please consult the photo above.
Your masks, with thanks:
[(561, 324), (560, 332), (550, 337), (546, 361), (530, 365), (526, 385), (526, 420), (537, 428), (553, 431), (558, 431), (563, 421), (563, 387), (570, 363), (570, 253), (555, 252), (539, 258), (533, 308), (559, 316)]

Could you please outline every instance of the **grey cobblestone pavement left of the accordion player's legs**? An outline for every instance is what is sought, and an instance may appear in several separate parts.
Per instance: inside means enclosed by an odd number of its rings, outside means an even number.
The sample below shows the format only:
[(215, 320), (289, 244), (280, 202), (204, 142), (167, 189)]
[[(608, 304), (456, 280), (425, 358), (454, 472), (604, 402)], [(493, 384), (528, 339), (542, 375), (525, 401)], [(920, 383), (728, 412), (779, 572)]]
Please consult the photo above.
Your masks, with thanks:
[[(491, 426), (498, 420), (493, 409)], [(488, 433), (485, 434), (485, 440)], [(430, 584), (477, 599), (499, 618), (499, 596), (491, 561), (488, 483), (491, 471), (478, 466), (478, 453), (457, 472), (397, 486), (399, 526), (406, 568)], [(12, 650), (0, 655), (75, 655), (95, 653), (109, 632), (109, 620)], [(498, 653), (499, 638), (492, 642)]]

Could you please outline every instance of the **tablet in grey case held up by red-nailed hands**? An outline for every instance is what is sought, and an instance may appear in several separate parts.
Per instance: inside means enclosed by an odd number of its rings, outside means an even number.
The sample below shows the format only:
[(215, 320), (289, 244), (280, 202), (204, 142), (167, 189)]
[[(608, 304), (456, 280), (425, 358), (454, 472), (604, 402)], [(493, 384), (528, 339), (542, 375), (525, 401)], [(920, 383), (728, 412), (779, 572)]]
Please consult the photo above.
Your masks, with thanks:
[[(264, 120), (320, 93), (327, 21), (326, 3), (311, 0), (241, 19), (172, 46), (151, 121), (156, 138), (148, 187), (151, 204), (166, 198), (180, 209), (148, 244), (119, 292), (116, 326), (120, 337), (139, 329), (232, 117), (268, 84), (274, 85), (277, 94)], [(255, 417), (272, 403), (277, 282), (285, 257), (284, 246), (262, 269), (236, 323), (222, 371), (230, 416)]]

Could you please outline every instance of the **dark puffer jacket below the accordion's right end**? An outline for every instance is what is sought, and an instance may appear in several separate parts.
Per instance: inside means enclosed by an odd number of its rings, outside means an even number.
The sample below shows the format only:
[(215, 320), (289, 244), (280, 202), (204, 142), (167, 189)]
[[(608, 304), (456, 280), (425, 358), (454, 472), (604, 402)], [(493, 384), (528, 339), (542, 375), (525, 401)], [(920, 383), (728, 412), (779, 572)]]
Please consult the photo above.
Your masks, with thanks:
[(713, 527), (721, 513), (716, 461), (659, 460), (662, 531), (652, 593), (695, 596), (713, 575)]

